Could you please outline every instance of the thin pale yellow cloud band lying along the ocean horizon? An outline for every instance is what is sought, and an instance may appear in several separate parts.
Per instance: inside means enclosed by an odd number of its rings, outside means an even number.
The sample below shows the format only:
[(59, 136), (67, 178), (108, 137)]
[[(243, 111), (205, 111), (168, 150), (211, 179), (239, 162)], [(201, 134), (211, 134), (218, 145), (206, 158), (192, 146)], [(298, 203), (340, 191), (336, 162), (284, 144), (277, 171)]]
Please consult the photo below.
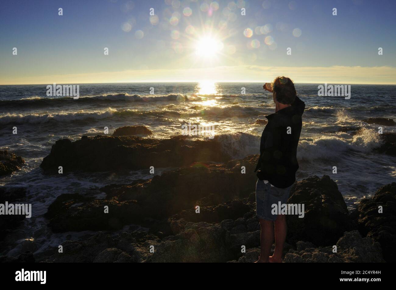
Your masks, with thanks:
[(393, 66), (216, 66), (213, 68), (177, 68), (124, 70), (87, 74), (62, 74), (11, 78), (6, 84), (117, 83), (117, 82), (268, 82), (276, 76), (288, 76), (296, 83), (396, 84)]

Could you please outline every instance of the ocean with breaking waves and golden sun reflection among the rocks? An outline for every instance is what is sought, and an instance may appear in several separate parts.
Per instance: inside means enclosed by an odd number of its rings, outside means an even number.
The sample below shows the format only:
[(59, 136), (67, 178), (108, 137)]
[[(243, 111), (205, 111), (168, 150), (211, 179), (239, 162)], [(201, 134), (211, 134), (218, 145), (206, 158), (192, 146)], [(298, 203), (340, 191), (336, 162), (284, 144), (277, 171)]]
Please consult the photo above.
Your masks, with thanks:
[[(356, 208), (360, 199), (395, 181), (396, 157), (373, 148), (381, 145), (379, 126), (384, 133), (395, 132), (396, 127), (363, 120), (396, 119), (396, 85), (351, 85), (350, 99), (318, 96), (318, 85), (295, 84), (306, 105), (296, 178), (327, 174), (337, 183), (348, 208)], [(39, 166), (55, 141), (104, 135), (105, 127), (111, 135), (126, 125), (148, 127), (153, 134), (146, 138), (168, 138), (181, 135), (182, 125), (190, 122), (214, 125), (223, 150), (243, 158), (259, 154), (265, 124), (257, 119), (275, 110), (272, 94), (263, 90), (262, 83), (89, 83), (79, 84), (79, 99), (47, 97), (46, 86), (0, 85), (0, 150), (9, 150), (26, 162), (21, 171), (0, 178), (0, 185), (27, 187), (24, 202), (33, 208), (32, 218), (7, 238), (9, 245), (1, 252), (9, 256), (20, 252), (23, 242), (33, 236), (40, 236), (33, 249), (40, 252), (86, 234), (51, 232), (43, 214), (57, 196), (151, 177), (147, 171), (45, 175)], [(337, 174), (333, 174), (334, 166)]]

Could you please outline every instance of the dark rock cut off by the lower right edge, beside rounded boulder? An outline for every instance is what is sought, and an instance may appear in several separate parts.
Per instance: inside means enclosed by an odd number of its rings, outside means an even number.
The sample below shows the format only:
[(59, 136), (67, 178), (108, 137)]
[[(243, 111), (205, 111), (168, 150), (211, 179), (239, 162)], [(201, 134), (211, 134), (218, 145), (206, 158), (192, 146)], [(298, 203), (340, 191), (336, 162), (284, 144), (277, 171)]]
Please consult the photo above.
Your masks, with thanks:
[[(379, 206), (383, 212), (379, 213)], [(380, 243), (386, 262), (396, 262), (396, 182), (387, 184), (358, 206), (358, 229)]]

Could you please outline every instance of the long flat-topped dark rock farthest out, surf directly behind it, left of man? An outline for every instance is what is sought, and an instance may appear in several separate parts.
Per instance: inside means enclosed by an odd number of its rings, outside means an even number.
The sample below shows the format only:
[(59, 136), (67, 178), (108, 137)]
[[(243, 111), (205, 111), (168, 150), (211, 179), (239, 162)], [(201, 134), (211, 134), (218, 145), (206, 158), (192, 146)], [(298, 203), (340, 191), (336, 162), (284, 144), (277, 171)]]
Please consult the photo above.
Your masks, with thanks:
[(55, 142), (51, 153), (44, 157), (40, 167), (48, 173), (71, 171), (140, 170), (161, 167), (181, 167), (194, 162), (223, 162), (230, 160), (223, 153), (221, 142), (191, 140), (188, 136), (169, 139), (138, 136), (95, 136), (71, 142)]

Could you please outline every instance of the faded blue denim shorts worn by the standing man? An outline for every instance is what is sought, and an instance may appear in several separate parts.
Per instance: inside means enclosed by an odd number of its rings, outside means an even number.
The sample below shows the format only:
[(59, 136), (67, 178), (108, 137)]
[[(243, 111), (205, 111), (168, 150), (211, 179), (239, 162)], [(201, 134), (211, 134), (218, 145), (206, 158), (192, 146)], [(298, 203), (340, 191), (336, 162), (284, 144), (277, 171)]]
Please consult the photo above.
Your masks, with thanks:
[(290, 189), (293, 184), (287, 188), (277, 188), (271, 186), (267, 180), (257, 180), (256, 183), (256, 216), (262, 220), (275, 221), (278, 214), (272, 214), (272, 205), (287, 203)]

